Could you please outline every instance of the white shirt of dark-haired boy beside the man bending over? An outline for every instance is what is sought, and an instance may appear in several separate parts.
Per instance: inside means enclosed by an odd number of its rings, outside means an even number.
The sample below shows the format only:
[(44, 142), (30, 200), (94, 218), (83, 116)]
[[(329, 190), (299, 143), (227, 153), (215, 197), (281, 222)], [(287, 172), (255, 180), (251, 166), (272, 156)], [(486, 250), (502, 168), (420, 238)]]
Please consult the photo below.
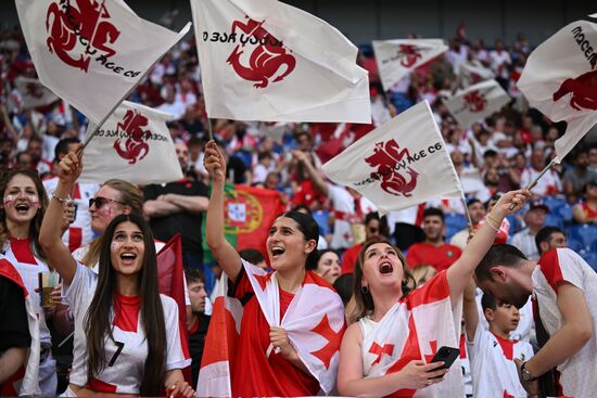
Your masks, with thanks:
[(526, 397), (519, 382), (515, 359), (533, 357), (533, 347), (526, 342), (504, 339), (477, 325), (472, 342), (467, 339), (473, 397)]

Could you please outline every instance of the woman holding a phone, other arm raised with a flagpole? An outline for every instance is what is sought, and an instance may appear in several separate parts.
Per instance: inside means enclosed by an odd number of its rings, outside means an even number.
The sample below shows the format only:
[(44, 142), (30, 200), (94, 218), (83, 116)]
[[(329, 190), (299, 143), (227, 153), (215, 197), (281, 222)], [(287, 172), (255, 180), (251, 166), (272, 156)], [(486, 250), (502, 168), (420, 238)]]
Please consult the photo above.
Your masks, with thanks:
[[(460, 368), (430, 363), (441, 346), (458, 347), (461, 296), (506, 216), (526, 190), (499, 200), (460, 258), (416, 290), (405, 257), (390, 242), (366, 242), (355, 267), (356, 308), (340, 350), (338, 388), (359, 397), (462, 396)], [(510, 206), (515, 205), (510, 210)], [(455, 367), (456, 368), (456, 367)]]

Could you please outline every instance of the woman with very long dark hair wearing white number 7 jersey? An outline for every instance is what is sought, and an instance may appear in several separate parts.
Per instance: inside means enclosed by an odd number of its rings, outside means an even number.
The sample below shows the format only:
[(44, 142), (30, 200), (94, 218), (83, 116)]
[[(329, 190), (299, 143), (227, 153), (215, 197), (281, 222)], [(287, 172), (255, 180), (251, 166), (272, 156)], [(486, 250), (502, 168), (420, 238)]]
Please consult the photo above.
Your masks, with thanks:
[(191, 397), (180, 369), (190, 364), (180, 343), (176, 301), (158, 293), (151, 229), (137, 214), (112, 219), (100, 239), (99, 273), (62, 243), (56, 226), (82, 171), (74, 153), (59, 165), (58, 187), (39, 242), (63, 278), (75, 318), (73, 371), (63, 396), (141, 395)]

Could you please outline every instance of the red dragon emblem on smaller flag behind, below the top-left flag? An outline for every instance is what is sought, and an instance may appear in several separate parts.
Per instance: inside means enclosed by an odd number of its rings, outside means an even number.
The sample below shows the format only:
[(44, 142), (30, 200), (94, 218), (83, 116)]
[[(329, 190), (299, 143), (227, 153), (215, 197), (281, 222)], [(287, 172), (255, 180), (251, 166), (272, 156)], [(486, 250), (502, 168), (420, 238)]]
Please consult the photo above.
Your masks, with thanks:
[(147, 140), (151, 137), (151, 131), (143, 130), (148, 123), (149, 119), (138, 111), (128, 110), (123, 121), (116, 125), (116, 129), (126, 132), (128, 138), (125, 141), (124, 149), (120, 139), (114, 141), (114, 150), (130, 165), (142, 161), (149, 153)]

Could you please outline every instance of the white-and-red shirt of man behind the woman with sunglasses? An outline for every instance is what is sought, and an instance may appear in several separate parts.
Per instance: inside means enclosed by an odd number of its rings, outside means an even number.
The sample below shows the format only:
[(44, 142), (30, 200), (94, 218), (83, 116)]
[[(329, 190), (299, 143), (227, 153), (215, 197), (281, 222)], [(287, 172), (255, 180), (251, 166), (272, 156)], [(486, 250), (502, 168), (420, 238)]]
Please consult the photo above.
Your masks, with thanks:
[[(52, 193), (58, 185), (58, 177), (43, 181), (43, 188), (48, 193), (48, 198), (51, 200)], [(85, 246), (91, 242), (94, 237), (94, 232), (91, 229), (91, 215), (89, 214), (89, 200), (96, 196), (96, 193), (100, 189), (97, 183), (77, 182), (73, 192), (73, 200), (75, 201), (75, 221), (68, 227), (68, 230), (62, 235), (62, 242), (68, 247), (68, 249), (75, 251), (81, 246)]]

